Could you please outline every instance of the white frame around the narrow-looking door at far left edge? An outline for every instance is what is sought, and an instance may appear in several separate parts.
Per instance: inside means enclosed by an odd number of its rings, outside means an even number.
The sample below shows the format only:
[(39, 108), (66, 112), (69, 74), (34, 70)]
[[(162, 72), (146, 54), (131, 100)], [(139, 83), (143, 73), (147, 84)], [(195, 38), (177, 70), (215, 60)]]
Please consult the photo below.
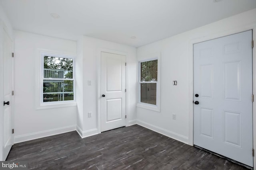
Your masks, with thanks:
[[(4, 125), (4, 120), (3, 118), (3, 102), (4, 102), (4, 98), (3, 98), (3, 80), (4, 80), (4, 75), (3, 75), (3, 31), (6, 31), (7, 35), (10, 37), (11, 41), (12, 41), (12, 52), (14, 52), (14, 42), (13, 39), (10, 36), (10, 32), (8, 31), (4, 21), (2, 21), (0, 19), (0, 72), (2, 74), (0, 74), (0, 161), (3, 161), (3, 125)], [(12, 59), (12, 90), (14, 90), (14, 59)], [(14, 96), (12, 96), (12, 129), (14, 129)], [(14, 144), (14, 137), (12, 138), (12, 145)]]

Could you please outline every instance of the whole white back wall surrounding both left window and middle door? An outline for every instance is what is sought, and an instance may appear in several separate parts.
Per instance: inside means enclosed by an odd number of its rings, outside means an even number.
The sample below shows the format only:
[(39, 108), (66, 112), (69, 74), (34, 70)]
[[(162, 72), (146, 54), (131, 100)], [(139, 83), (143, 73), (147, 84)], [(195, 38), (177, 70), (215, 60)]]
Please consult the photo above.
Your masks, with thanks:
[[(136, 48), (86, 36), (81, 36), (77, 43), (22, 31), (14, 31), (14, 36), (15, 143), (75, 129), (82, 137), (98, 134), (98, 49), (127, 54), (128, 125), (136, 123)], [(76, 55), (77, 107), (36, 109), (39, 49)], [(92, 86), (87, 85), (88, 80), (92, 80)], [(92, 112), (91, 118), (87, 115), (89, 111)]]

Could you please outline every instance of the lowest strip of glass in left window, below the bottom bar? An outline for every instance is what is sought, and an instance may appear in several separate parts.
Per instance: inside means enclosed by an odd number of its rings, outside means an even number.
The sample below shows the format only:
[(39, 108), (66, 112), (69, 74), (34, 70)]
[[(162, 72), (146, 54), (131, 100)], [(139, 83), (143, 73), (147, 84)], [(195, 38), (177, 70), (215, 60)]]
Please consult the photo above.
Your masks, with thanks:
[(43, 102), (56, 102), (64, 100), (74, 100), (74, 93), (43, 94)]

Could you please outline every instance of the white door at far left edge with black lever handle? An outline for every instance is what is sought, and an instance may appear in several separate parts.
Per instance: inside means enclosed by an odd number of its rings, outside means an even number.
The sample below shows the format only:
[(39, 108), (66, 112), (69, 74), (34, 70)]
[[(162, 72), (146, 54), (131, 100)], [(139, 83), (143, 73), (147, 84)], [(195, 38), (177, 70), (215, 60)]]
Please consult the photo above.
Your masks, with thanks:
[(3, 29), (3, 139), (2, 139), (2, 153), (3, 160), (6, 160), (8, 153), (14, 142), (14, 135), (12, 134), (12, 40), (8, 36), (5, 29)]

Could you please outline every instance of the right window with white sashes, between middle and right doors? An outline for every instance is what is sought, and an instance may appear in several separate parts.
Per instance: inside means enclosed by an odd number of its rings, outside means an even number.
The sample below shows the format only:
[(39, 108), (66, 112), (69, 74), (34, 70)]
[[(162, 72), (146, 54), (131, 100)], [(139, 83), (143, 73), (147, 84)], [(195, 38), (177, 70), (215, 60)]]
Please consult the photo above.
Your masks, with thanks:
[[(158, 59), (139, 62), (139, 100), (138, 104), (159, 109), (159, 63)], [(138, 105), (137, 105), (138, 106)], [(148, 109), (148, 108), (147, 108)], [(155, 110), (155, 109), (153, 109)]]

